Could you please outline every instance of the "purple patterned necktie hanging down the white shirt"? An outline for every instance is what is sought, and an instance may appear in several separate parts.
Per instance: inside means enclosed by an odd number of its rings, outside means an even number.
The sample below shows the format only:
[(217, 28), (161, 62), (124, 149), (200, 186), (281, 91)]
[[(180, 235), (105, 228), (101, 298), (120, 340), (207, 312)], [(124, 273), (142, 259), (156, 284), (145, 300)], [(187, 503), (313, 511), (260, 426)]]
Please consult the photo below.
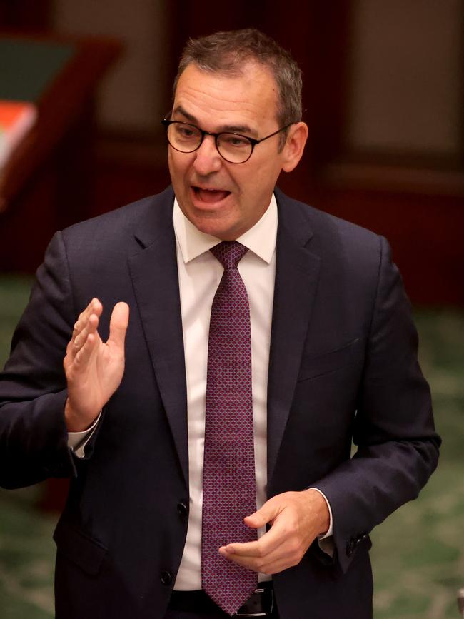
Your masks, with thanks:
[(228, 543), (256, 540), (243, 517), (256, 511), (250, 309), (237, 265), (248, 251), (223, 241), (211, 252), (224, 267), (211, 307), (203, 463), (202, 587), (229, 615), (256, 589), (257, 574), (221, 557)]

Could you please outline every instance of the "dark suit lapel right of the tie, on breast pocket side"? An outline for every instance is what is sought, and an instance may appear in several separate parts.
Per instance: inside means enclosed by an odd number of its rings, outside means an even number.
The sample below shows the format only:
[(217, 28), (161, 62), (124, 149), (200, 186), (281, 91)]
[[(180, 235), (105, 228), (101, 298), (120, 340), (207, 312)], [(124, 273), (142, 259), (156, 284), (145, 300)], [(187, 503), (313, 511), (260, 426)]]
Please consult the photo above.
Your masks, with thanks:
[(268, 374), (268, 486), (295, 391), (318, 283), (320, 258), (308, 250), (312, 232), (301, 204), (276, 191), (278, 233)]

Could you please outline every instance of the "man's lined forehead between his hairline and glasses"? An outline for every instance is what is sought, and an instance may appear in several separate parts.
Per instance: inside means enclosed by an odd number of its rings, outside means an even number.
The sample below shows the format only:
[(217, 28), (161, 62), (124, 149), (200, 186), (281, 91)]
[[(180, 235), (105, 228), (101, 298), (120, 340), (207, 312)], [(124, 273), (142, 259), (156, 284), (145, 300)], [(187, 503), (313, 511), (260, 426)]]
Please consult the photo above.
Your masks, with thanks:
[(203, 126), (239, 121), (256, 126), (276, 121), (277, 102), (276, 81), (264, 66), (249, 63), (230, 76), (191, 64), (178, 80), (173, 111), (181, 108)]

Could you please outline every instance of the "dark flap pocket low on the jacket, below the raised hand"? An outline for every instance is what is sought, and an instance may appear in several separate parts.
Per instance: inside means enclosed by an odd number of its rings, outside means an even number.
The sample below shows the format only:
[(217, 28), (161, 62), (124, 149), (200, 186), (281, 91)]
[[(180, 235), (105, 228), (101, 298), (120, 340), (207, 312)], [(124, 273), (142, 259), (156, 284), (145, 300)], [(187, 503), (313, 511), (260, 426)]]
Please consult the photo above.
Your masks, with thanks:
[(103, 544), (60, 521), (53, 536), (58, 552), (89, 575), (99, 573), (107, 549)]

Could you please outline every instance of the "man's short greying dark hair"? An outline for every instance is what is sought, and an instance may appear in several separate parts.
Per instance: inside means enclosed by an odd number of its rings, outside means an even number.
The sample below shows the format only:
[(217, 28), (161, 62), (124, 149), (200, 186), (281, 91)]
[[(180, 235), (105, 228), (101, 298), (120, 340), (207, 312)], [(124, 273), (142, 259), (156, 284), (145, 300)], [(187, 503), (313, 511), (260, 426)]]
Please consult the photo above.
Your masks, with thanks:
[[(276, 80), (279, 125), (283, 127), (301, 121), (301, 69), (286, 49), (254, 28), (221, 31), (200, 39), (189, 39), (178, 64), (173, 96), (176, 96), (180, 76), (191, 64), (201, 71), (239, 76), (247, 62), (266, 67)], [(280, 148), (285, 140), (286, 136), (282, 135)]]

